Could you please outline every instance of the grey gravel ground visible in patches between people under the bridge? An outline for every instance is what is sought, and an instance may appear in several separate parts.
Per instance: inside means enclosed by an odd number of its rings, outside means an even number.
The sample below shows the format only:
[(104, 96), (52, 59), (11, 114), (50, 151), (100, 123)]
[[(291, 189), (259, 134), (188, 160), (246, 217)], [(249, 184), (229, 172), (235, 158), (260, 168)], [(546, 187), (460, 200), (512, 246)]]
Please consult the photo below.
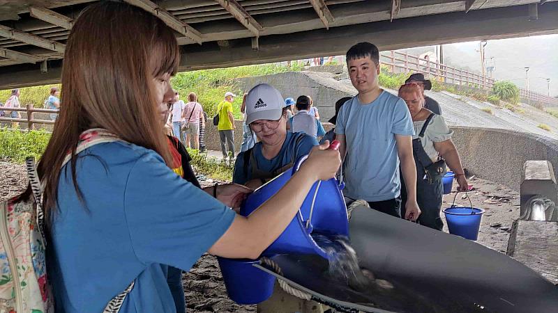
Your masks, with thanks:
[[(20, 193), (26, 180), (24, 166), (0, 161), (0, 200)], [(202, 186), (211, 186), (213, 181), (202, 177), (201, 183)], [(471, 179), (469, 184), (474, 186), (474, 190), (468, 193), (473, 206), (486, 210), (478, 243), (505, 253), (511, 223), (519, 217), (519, 194), (483, 179)], [(451, 206), (456, 185), (453, 193), (444, 196), (442, 209)], [(462, 195), (458, 195), (456, 202), (465, 205), (467, 200), (462, 199)], [(448, 231), (447, 227), (444, 231)], [(183, 274), (183, 286), (188, 312), (256, 312), (255, 305), (237, 305), (229, 300), (217, 259), (211, 255), (203, 255), (188, 273)]]

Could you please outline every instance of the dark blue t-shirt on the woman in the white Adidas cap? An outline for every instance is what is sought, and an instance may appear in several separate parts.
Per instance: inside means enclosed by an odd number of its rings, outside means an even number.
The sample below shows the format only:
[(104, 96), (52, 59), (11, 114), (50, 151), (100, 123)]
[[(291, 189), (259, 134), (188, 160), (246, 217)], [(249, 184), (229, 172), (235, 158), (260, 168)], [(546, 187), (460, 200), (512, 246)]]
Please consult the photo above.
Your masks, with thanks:
[[(299, 138), (299, 139), (297, 139)], [(291, 163), (292, 160), (296, 161), (303, 155), (309, 154), (312, 147), (317, 145), (318, 142), (314, 136), (303, 133), (288, 133), (285, 138), (279, 154), (271, 160), (268, 160), (262, 154), (262, 143), (256, 143), (252, 148), (252, 154), (257, 162), (257, 168), (264, 172), (274, 172)], [(296, 145), (296, 147), (294, 147)], [(293, 157), (293, 151), (295, 156)], [(232, 175), (232, 182), (236, 184), (246, 184), (252, 179), (252, 163), (248, 160), (248, 172), (244, 170), (244, 155), (246, 152), (241, 152), (236, 158), (234, 163), (234, 174)]]

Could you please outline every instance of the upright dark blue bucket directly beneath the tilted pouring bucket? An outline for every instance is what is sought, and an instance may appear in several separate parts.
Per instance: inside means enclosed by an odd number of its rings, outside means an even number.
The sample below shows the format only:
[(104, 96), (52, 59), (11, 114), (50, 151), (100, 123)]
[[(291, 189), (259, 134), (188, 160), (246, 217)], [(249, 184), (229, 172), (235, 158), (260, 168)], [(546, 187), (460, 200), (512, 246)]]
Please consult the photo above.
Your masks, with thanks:
[(217, 257), (227, 294), (236, 303), (254, 305), (261, 303), (273, 294), (275, 276), (266, 273), (252, 264), (255, 259), (226, 259)]

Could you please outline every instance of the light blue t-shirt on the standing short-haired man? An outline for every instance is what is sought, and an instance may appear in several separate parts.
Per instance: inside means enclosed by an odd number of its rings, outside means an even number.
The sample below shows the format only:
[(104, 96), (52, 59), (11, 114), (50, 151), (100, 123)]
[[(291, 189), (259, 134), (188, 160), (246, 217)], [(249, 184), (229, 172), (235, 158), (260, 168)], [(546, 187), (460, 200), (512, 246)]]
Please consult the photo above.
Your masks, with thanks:
[(414, 135), (403, 99), (385, 90), (369, 104), (354, 97), (341, 107), (335, 134), (345, 135), (347, 143), (345, 196), (375, 202), (400, 195), (395, 134)]

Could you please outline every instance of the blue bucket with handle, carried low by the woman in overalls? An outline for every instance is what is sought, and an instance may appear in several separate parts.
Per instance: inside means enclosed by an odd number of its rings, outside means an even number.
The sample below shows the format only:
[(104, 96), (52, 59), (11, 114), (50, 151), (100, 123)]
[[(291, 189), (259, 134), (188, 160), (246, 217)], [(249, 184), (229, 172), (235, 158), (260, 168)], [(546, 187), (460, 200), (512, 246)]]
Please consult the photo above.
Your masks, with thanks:
[(478, 229), (481, 227), (481, 218), (483, 217), (484, 210), (473, 207), (471, 198), (465, 193), (469, 199), (470, 207), (456, 207), (455, 198), (459, 193), (455, 193), (453, 204), (451, 207), (444, 209), (446, 215), (446, 222), (448, 223), (448, 230), (450, 234), (462, 236), (465, 239), (476, 240), (478, 237)]

